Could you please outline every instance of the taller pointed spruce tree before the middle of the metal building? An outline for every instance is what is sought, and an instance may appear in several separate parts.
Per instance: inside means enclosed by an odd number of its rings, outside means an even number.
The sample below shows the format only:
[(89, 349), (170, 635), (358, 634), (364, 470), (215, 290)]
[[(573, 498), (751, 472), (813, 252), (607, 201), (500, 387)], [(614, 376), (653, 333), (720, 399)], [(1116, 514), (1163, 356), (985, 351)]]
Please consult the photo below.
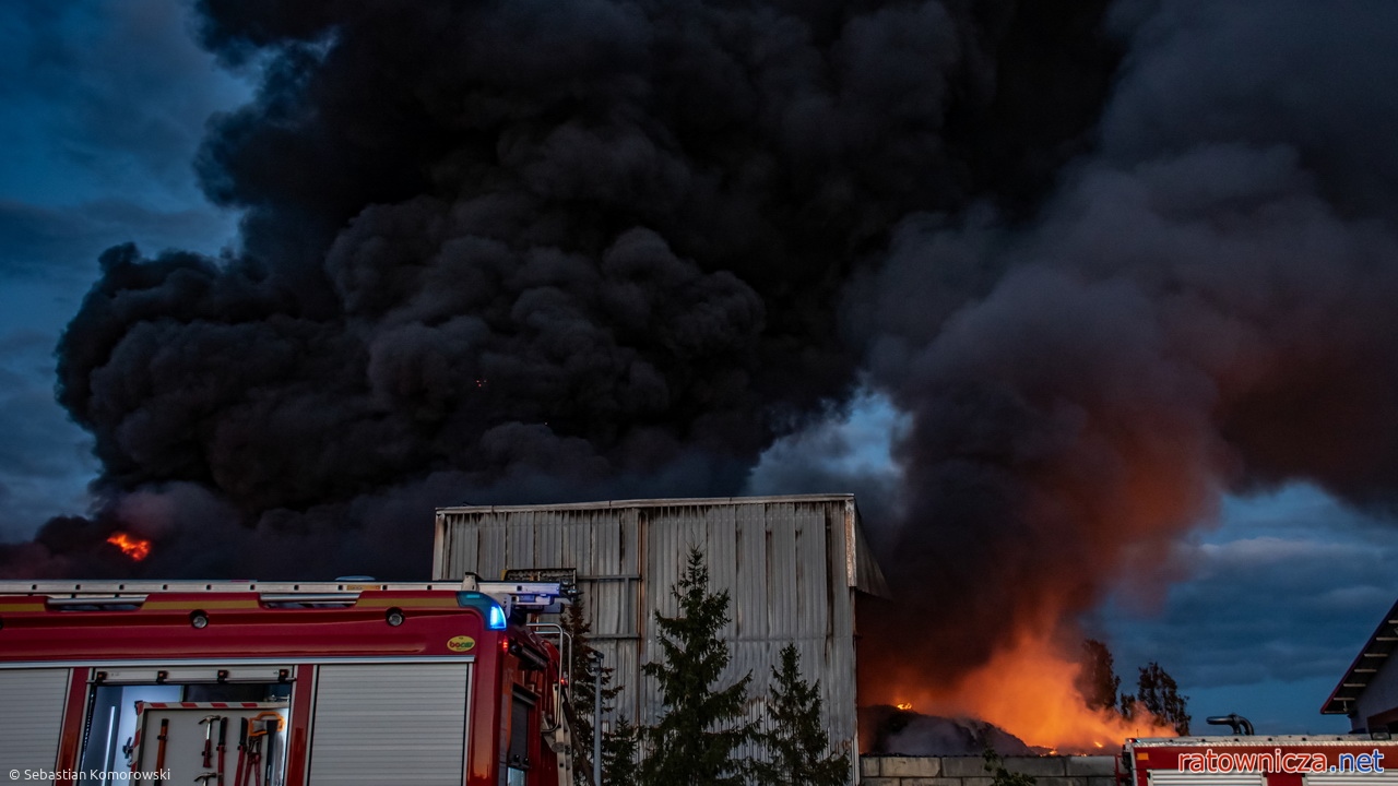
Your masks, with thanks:
[(649, 755), (640, 765), (640, 782), (740, 786), (748, 764), (737, 758), (737, 750), (754, 737), (752, 723), (741, 720), (752, 673), (717, 688), (733, 657), (719, 638), (728, 622), (728, 593), (709, 592), (709, 568), (695, 548), (671, 592), (679, 613), (665, 617), (656, 611), (663, 657), (642, 667), (660, 683), (664, 716), (644, 731)]

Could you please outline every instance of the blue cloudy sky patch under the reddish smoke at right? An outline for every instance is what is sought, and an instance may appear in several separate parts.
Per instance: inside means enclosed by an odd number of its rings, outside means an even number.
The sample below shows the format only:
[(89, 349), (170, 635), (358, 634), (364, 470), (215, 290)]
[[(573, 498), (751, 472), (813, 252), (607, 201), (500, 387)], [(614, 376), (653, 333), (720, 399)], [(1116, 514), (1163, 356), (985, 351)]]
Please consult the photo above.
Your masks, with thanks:
[[(1159, 615), (1107, 607), (1099, 624), (1121, 666), (1159, 660), (1186, 688), (1334, 687), (1398, 596), (1398, 545), (1391, 531), (1346, 529), (1356, 515), (1314, 488), (1279, 496), (1295, 505), (1290, 515), (1275, 498), (1261, 501), (1253, 506), (1265, 510), (1261, 520), (1230, 519), (1209, 543), (1187, 547), (1194, 572), (1170, 589)], [(1286, 536), (1260, 534), (1276, 531)], [(1324, 698), (1297, 701), (1309, 713)]]

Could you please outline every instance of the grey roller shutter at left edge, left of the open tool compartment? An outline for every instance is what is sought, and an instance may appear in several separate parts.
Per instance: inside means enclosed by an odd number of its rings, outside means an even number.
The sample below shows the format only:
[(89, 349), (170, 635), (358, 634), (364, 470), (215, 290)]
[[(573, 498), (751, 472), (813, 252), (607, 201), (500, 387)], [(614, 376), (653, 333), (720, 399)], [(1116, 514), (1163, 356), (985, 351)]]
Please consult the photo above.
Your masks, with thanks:
[(0, 670), (0, 762), (52, 771), (67, 695), (67, 669)]

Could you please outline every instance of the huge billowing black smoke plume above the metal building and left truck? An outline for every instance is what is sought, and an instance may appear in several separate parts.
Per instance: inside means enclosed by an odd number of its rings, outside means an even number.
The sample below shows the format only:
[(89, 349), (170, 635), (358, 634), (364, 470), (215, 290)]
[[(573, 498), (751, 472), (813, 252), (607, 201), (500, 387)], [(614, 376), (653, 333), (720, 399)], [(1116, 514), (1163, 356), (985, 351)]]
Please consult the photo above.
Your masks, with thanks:
[(240, 248), (102, 256), (59, 397), (105, 503), (11, 572), (411, 575), (436, 503), (735, 492), (856, 389), (891, 229), (1028, 215), (1116, 62), (1100, 3), (199, 11), (261, 74), (196, 161)]

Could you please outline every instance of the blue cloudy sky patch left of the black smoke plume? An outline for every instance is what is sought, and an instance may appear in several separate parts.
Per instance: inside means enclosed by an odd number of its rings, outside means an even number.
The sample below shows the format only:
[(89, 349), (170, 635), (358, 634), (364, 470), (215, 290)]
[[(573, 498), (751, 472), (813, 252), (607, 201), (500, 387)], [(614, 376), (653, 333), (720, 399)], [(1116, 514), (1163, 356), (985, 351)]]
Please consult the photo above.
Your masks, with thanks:
[[(87, 509), (91, 441), (53, 403), (53, 345), (98, 255), (140, 241), (215, 253), (235, 215), (192, 159), (211, 112), (247, 95), (189, 34), (180, 0), (0, 6), (0, 531)], [(36, 336), (41, 331), (42, 336)]]

